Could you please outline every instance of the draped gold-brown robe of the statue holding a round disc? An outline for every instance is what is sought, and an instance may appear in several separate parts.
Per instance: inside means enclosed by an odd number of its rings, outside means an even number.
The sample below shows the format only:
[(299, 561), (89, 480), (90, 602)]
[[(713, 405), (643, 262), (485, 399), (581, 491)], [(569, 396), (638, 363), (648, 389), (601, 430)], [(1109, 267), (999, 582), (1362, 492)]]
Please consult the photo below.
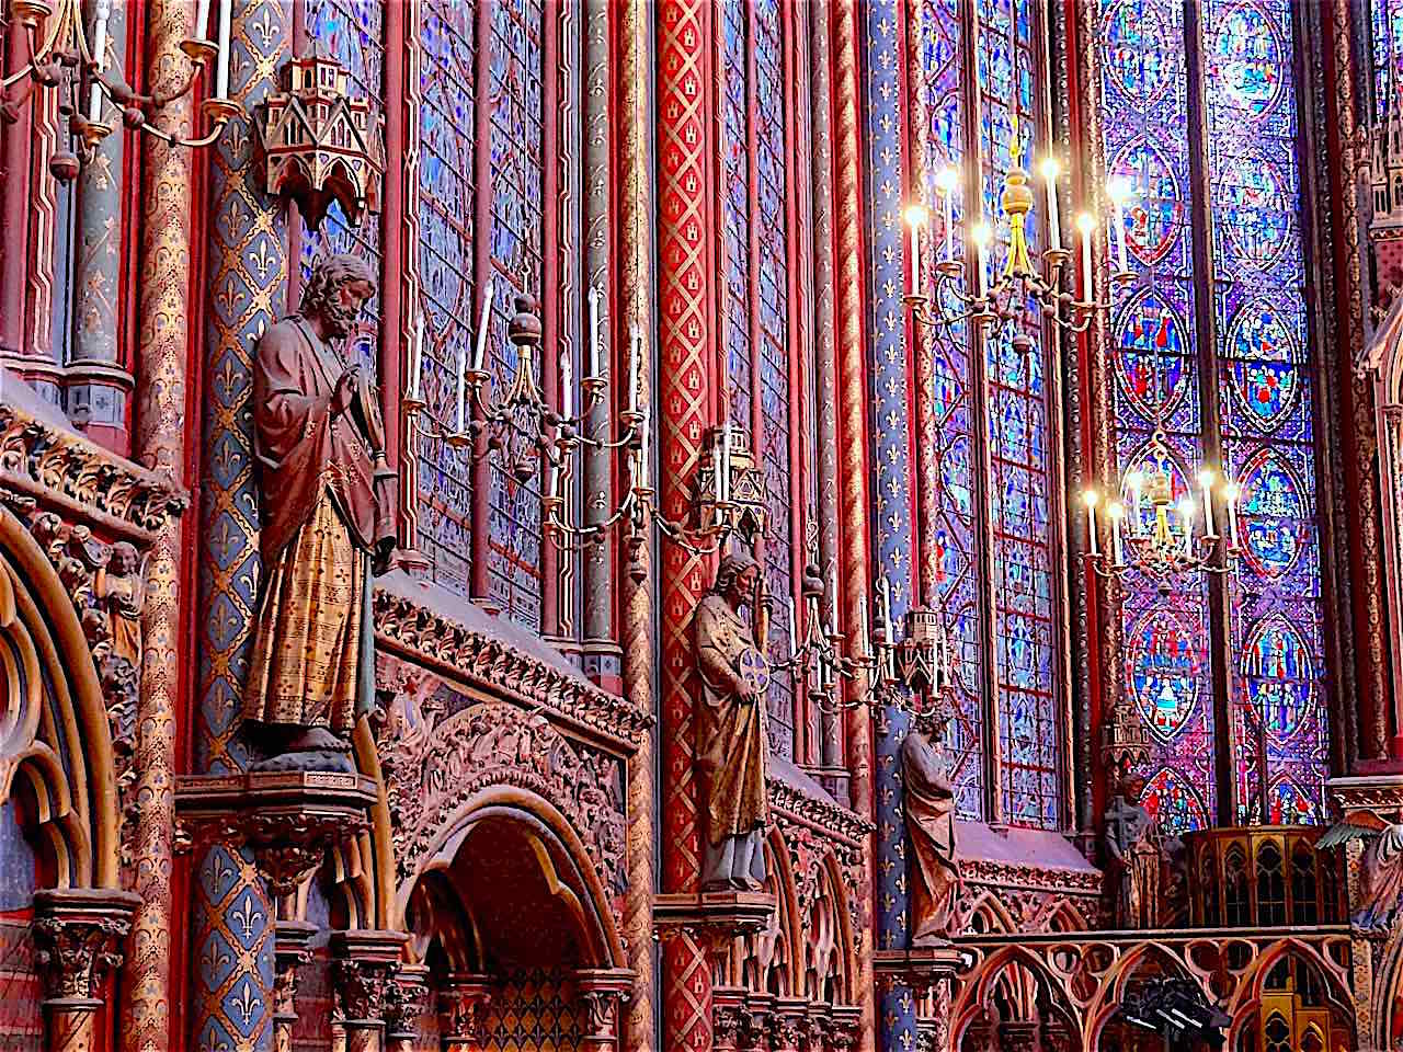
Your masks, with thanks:
[(707, 787), (707, 840), (717, 846), (730, 836), (765, 829), (765, 699), (741, 704), (731, 685), (714, 683), (707, 663), (739, 673), (739, 658), (755, 649), (751, 627), (723, 596), (709, 595), (697, 606), (696, 645), (702, 668), (696, 750)]

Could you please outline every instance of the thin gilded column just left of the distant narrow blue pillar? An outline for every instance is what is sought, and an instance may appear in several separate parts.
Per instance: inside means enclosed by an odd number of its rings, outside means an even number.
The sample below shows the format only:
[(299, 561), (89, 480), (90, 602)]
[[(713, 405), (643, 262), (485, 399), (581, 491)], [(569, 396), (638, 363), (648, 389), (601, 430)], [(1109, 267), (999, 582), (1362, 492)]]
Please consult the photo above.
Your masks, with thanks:
[[(867, 460), (867, 366), (863, 339), (863, 254), (861, 222), (867, 209), (861, 196), (861, 132), (857, 108), (861, 102), (857, 59), (856, 0), (833, 1), (833, 171), (838, 268), (838, 367), (839, 429), (842, 470), (842, 562), (843, 623), (850, 626), (853, 648), (866, 654), (867, 640), (859, 626), (867, 623), (867, 596), (871, 595)], [(899, 288), (899, 286), (898, 286)], [(859, 675), (852, 683), (854, 699), (868, 692), (867, 679)], [(853, 811), (864, 819), (873, 816), (871, 721), (866, 708), (847, 715), (847, 770), (852, 777)], [(873, 842), (863, 853), (861, 885), (852, 889), (860, 910), (857, 924), (857, 990), (861, 1006), (860, 1048), (874, 1045), (875, 1011), (873, 1003)]]

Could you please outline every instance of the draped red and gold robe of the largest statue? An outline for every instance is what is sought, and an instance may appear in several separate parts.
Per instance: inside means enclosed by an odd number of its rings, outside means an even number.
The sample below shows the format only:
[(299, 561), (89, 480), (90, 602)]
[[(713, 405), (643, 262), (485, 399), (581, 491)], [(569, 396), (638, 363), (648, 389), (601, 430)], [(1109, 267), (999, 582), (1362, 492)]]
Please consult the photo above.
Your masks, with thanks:
[(349, 736), (373, 697), (370, 551), (383, 529), (370, 450), (333, 410), (341, 362), (297, 316), (258, 344), (262, 600), (244, 717)]

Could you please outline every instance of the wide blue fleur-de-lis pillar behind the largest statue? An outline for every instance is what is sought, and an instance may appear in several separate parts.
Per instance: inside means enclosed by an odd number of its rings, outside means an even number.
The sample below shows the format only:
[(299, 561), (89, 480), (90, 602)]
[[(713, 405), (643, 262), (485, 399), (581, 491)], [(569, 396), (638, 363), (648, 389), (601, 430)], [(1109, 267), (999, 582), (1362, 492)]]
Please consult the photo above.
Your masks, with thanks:
[[(234, 0), (236, 60), (230, 94), (251, 114), (274, 90), (289, 55), (292, 11), (283, 0)], [(199, 715), (195, 767), (229, 773), (247, 764), (239, 738), (258, 598), (258, 494), (253, 456), (254, 342), (283, 310), (288, 237), (282, 213), (258, 189), (253, 129), (240, 115), (210, 150), (205, 405), (199, 561)], [(265, 1049), (276, 1009), (275, 919), (248, 847), (216, 842), (198, 863), (195, 891), (194, 1045), (201, 1052)], [(227, 948), (231, 962), (222, 962)]]

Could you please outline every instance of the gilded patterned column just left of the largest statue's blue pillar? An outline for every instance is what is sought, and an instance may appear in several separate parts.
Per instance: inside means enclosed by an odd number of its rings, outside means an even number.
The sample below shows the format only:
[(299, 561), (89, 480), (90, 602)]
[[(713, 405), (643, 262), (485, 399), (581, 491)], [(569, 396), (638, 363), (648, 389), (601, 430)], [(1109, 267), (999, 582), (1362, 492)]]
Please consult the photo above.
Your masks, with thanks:
[[(188, 0), (150, 0), (147, 84), (177, 95), (189, 60), (178, 43), (189, 35)], [(189, 128), (194, 108), (178, 95), (156, 115), (164, 128)], [(146, 140), (142, 182), (142, 282), (137, 342), (136, 456), (185, 485), (185, 363), (189, 351), (189, 150)], [(142, 689), (136, 708), (137, 783), (133, 851), (142, 864), (132, 889), (142, 902), (132, 923), (122, 982), (122, 1048), (161, 1052), (170, 1034), (171, 840), (175, 823), (175, 703), (181, 658), (181, 526), (168, 520), (152, 547), (142, 613)]]

